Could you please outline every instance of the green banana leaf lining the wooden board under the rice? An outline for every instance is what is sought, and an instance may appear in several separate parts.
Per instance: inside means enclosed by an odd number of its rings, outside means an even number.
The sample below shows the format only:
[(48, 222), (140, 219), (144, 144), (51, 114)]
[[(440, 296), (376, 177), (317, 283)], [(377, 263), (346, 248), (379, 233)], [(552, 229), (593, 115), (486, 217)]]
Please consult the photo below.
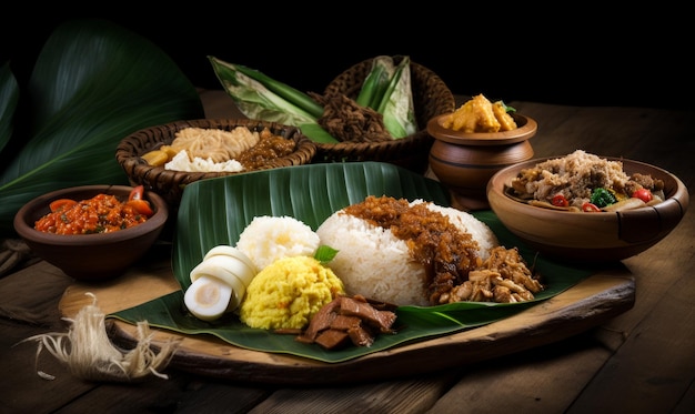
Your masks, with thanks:
[(588, 269), (536, 260), (535, 252), (511, 234), (494, 213), (482, 211), (474, 215), (491, 226), (502, 244), (517, 246), (526, 261), (541, 272), (547, 289), (535, 301), (517, 304), (463, 302), (429, 307), (401, 306), (396, 311), (396, 334), (382, 334), (370, 347), (354, 346), (336, 351), (299, 343), (292, 335), (249, 327), (234, 314), (204, 322), (185, 312), (183, 292), (190, 286), (190, 271), (213, 246), (234, 245), (254, 216), (290, 215), (315, 230), (336, 210), (360, 202), (370, 194), (411, 201), (422, 199), (439, 205), (450, 205), (449, 193), (439, 182), (379, 162), (289, 166), (191, 183), (181, 200), (172, 253), (174, 276), (182, 290), (108, 317), (133, 324), (147, 320), (151, 326), (190, 335), (213, 335), (234, 346), (338, 363), (508, 317), (572, 287), (593, 273)]

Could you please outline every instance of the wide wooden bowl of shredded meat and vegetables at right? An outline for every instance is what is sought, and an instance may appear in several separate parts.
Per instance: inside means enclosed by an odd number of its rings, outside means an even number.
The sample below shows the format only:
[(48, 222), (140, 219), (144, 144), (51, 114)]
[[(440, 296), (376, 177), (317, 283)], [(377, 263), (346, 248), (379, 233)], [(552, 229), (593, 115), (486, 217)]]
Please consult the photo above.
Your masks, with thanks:
[(580, 263), (644, 252), (681, 222), (689, 201), (668, 171), (582, 150), (503, 169), (490, 180), (487, 199), (527, 245)]

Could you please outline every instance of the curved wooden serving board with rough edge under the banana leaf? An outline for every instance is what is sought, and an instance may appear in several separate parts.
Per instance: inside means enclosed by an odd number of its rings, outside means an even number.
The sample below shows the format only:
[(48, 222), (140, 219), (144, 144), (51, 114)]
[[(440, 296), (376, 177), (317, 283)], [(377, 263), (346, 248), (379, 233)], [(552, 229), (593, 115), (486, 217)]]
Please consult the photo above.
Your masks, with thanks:
[[(178, 289), (169, 263), (164, 263), (132, 270), (107, 284), (73, 284), (63, 293), (59, 310), (63, 316), (73, 317), (92, 303), (85, 294), (91, 292), (109, 314)], [(153, 329), (153, 343), (157, 346), (172, 336), (180, 339), (169, 366), (207, 376), (269, 384), (344, 384), (424, 374), (545, 345), (594, 327), (632, 309), (634, 302), (634, 277), (620, 266), (594, 274), (508, 319), (335, 364), (240, 349), (212, 335), (158, 329)], [(110, 319), (107, 329), (114, 343), (125, 347), (135, 343), (134, 325)]]

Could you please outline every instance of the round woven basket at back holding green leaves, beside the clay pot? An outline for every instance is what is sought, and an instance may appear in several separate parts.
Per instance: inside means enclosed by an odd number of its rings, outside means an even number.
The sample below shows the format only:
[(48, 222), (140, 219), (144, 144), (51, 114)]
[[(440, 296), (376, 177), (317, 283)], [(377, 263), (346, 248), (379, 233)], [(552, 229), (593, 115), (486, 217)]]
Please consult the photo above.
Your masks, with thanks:
[[(399, 63), (402, 57), (394, 57)], [(372, 70), (372, 60), (364, 60), (333, 79), (324, 93), (343, 93), (355, 99), (364, 79)], [(400, 140), (384, 142), (316, 143), (313, 162), (382, 161), (423, 173), (427, 169), (434, 139), (427, 133), (431, 118), (452, 112), (456, 102), (444, 81), (430, 69), (411, 61), (411, 88), (417, 132)]]

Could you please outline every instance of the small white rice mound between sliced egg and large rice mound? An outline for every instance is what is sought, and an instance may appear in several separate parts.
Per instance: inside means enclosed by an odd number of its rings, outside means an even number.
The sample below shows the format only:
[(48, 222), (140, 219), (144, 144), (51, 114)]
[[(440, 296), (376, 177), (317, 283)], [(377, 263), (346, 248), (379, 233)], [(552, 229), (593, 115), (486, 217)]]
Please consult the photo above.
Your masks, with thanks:
[(291, 216), (262, 215), (254, 218), (239, 235), (236, 249), (261, 271), (283, 258), (313, 258), (320, 241), (319, 235), (302, 221)]

